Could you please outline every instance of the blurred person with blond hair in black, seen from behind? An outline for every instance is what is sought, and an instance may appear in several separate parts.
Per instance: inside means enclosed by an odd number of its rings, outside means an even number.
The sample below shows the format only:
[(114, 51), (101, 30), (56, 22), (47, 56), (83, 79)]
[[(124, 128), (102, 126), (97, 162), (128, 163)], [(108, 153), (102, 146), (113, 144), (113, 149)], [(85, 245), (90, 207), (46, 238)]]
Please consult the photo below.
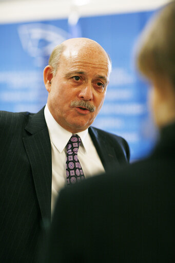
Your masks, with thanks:
[(145, 160), (60, 192), (42, 263), (175, 262), (174, 31), (172, 1), (148, 23), (137, 49), (151, 83), (157, 145)]

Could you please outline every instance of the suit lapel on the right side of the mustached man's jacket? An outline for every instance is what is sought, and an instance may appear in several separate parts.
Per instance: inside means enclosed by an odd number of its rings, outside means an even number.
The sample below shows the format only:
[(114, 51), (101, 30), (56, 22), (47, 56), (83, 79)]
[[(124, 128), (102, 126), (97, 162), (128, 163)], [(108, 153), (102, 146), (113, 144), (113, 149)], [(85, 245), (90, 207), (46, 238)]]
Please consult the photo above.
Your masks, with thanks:
[(94, 127), (89, 127), (89, 134), (99, 154), (102, 164), (107, 172), (110, 165), (120, 165), (118, 159), (116, 158), (114, 148), (108, 142), (106, 135), (102, 134), (99, 129)]

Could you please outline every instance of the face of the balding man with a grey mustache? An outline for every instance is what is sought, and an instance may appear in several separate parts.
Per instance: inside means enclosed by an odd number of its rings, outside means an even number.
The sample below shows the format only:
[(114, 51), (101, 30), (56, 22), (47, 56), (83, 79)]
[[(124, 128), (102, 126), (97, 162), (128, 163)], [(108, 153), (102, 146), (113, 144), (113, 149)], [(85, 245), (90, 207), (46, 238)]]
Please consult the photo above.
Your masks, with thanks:
[(103, 105), (108, 79), (106, 54), (92, 49), (66, 49), (48, 96), (48, 107), (56, 122), (71, 133), (87, 129)]

